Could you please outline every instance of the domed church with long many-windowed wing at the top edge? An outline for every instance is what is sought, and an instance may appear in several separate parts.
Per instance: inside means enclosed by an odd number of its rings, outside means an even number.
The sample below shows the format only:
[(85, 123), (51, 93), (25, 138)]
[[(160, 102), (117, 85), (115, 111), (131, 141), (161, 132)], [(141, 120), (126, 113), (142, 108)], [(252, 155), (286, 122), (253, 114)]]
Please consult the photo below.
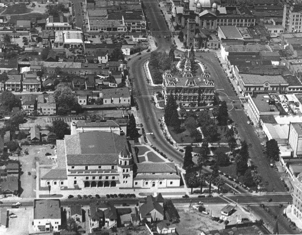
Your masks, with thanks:
[(255, 25), (256, 17), (251, 14), (227, 14), (225, 7), (220, 7), (214, 0), (171, 0), (172, 14), (177, 25), (184, 28), (189, 20), (195, 20), (199, 28), (210, 32), (218, 31), (219, 25), (249, 27)]

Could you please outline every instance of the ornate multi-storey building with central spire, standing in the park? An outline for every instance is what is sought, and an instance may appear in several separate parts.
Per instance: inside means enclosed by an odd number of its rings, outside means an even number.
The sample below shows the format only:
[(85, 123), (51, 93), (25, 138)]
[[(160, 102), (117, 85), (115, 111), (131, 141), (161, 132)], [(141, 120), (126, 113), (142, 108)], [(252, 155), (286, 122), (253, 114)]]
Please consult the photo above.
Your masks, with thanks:
[(163, 95), (165, 102), (174, 96), (179, 106), (205, 106), (214, 100), (214, 81), (210, 80), (209, 73), (193, 76), (189, 58), (185, 61), (185, 68), (180, 75), (172, 74), (167, 70), (163, 74)]

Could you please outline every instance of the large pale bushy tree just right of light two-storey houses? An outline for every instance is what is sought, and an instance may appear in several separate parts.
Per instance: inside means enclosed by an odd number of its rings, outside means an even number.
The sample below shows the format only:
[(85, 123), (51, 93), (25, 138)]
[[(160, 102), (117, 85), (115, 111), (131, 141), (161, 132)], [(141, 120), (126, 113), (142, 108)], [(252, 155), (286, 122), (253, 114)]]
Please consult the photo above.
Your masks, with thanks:
[(66, 87), (64, 84), (59, 84), (56, 86), (54, 96), (58, 106), (59, 115), (66, 115), (71, 110), (81, 110), (75, 94), (73, 94), (72, 90), (69, 87)]

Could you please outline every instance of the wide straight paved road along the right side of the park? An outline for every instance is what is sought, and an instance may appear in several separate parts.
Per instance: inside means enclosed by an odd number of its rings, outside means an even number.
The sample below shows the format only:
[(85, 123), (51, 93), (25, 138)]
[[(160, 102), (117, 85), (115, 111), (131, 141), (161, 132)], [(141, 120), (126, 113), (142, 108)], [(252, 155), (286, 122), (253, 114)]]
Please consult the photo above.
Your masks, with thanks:
[[(239, 98), (235, 96), (235, 93), (229, 85), (223, 69), (220, 67), (217, 58), (214, 57), (214, 54), (195, 54), (196, 59), (205, 62), (205, 65), (208, 67), (208, 71), (211, 73), (211, 77), (215, 81), (215, 88), (220, 89), (218, 90), (218, 93), (221, 99), (225, 100), (223, 97), (229, 96), (233, 97), (231, 100), (236, 100), (238, 103)], [(202, 58), (199, 56), (202, 56)], [(231, 103), (230, 100), (227, 101), (227, 103)], [(240, 107), (240, 105), (237, 106)], [(229, 110), (231, 119), (238, 124), (237, 130), (239, 131), (239, 137), (241, 140), (247, 140), (247, 143), (251, 143), (253, 146), (249, 151), (250, 158), (253, 160), (255, 166), (257, 166), (257, 170), (262, 175), (263, 181), (270, 182), (270, 184), (266, 186), (268, 191), (272, 192), (273, 189), (275, 189), (277, 192), (285, 191), (285, 188), (280, 181), (280, 176), (273, 168), (269, 166), (269, 161), (262, 153), (263, 147), (261, 146), (261, 142), (256, 136), (253, 127), (247, 124), (247, 116), (244, 113), (244, 110), (235, 110), (232, 105), (229, 105)]]

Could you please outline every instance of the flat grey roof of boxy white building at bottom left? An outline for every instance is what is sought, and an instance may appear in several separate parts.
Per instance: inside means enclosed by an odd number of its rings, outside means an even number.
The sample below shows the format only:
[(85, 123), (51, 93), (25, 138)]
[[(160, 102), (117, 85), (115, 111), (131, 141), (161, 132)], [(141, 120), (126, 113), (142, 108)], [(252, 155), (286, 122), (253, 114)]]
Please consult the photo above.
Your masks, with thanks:
[(60, 200), (34, 200), (34, 219), (61, 219)]

